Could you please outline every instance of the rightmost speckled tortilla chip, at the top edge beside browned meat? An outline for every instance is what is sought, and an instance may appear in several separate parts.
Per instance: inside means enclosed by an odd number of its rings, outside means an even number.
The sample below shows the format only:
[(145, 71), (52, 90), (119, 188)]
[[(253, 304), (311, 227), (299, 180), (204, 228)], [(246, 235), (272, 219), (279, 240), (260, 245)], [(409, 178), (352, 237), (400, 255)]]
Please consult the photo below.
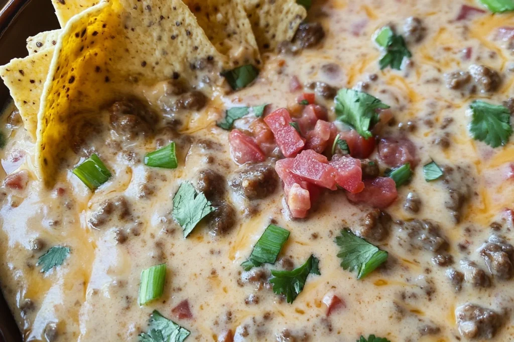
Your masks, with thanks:
[(296, 0), (242, 0), (253, 34), (262, 50), (275, 50), (290, 42), (307, 11)]

